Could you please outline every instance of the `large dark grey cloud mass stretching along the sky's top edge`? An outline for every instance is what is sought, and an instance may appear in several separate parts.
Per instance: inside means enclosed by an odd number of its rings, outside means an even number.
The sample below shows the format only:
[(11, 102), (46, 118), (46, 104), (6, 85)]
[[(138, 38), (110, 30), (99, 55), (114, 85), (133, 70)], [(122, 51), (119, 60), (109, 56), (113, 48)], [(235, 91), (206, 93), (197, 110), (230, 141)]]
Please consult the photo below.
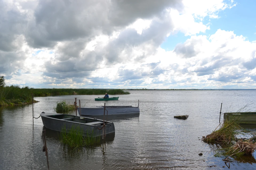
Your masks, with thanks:
[(138, 18), (158, 16), (169, 7), (182, 10), (183, 5), (178, 0), (39, 1), (26, 37), (31, 46), (49, 47), (57, 41), (110, 35)]

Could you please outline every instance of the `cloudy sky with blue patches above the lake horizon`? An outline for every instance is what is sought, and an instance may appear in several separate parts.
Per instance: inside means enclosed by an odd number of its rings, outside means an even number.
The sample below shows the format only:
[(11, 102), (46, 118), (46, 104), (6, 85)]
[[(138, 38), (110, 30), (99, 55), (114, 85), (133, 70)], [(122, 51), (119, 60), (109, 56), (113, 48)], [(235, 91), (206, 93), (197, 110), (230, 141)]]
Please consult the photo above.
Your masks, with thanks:
[(0, 75), (31, 88), (256, 88), (255, 0), (0, 0)]

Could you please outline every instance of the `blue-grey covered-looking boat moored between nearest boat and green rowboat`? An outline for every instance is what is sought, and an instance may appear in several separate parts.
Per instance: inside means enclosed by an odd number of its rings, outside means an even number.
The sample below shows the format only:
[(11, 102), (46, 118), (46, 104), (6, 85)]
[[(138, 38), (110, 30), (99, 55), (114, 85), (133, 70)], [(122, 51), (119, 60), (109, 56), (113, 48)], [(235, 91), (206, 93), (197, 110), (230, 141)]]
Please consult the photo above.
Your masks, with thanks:
[[(82, 116), (102, 116), (104, 114), (104, 106), (81, 107), (78, 109), (79, 115)], [(82, 113), (82, 114), (81, 114)], [(105, 115), (126, 115), (139, 114), (139, 107), (132, 106), (106, 106)]]

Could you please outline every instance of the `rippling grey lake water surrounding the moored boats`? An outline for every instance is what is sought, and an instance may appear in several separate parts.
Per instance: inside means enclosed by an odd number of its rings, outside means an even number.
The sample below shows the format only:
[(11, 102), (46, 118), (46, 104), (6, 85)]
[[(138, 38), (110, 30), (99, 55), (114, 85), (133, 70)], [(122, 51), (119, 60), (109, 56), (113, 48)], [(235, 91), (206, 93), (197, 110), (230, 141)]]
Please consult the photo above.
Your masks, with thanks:
[[(42, 152), (46, 129), (50, 169), (228, 169), (215, 157), (216, 146), (201, 141), (219, 125), (219, 112), (238, 111), (255, 102), (256, 91), (130, 91), (117, 101), (94, 101), (104, 95), (35, 97), (35, 117), (53, 113), (62, 100), (81, 106), (132, 105), (140, 114), (116, 117), (115, 134), (99, 146), (62, 146), (58, 133), (32, 118), (32, 104), (0, 108), (0, 169), (47, 169)], [(115, 95), (110, 95), (115, 97)], [(252, 108), (251, 104), (246, 109)], [(70, 114), (74, 114), (72, 112)], [(187, 120), (176, 115), (189, 115)], [(111, 119), (109, 117), (109, 119)], [(221, 115), (223, 120), (223, 115)], [(202, 153), (202, 156), (198, 154)], [(216, 167), (210, 167), (216, 165)], [(230, 169), (256, 169), (254, 157), (230, 163)]]

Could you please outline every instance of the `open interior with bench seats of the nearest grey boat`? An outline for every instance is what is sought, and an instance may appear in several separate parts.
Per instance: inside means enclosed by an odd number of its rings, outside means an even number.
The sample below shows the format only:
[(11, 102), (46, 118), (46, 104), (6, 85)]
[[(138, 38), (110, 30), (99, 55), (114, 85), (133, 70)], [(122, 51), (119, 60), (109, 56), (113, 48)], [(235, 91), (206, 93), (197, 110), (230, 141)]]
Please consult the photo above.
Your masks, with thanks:
[[(71, 122), (78, 122), (86, 125), (103, 125), (103, 121), (99, 121), (94, 118), (86, 118), (86, 117), (79, 117), (79, 116), (73, 116), (73, 115), (67, 115), (67, 114), (61, 114), (61, 115), (49, 115), (47, 117), (52, 117), (56, 119), (71, 121)], [(105, 123), (107, 123), (105, 121)]]

